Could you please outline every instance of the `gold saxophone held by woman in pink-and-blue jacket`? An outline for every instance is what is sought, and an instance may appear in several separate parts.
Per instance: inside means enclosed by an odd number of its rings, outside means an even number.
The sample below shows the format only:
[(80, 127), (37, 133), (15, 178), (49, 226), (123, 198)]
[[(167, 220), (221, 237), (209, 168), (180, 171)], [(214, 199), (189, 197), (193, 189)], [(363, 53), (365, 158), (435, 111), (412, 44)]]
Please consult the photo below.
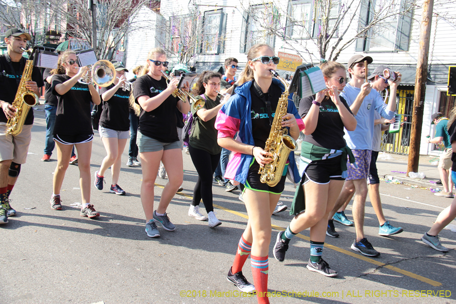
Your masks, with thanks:
[(290, 151), (297, 149), (296, 141), (288, 135), (288, 129), (282, 127), (282, 117), (287, 113), (288, 107), (288, 83), (282, 79), (275, 70), (271, 70), (274, 75), (285, 86), (285, 91), (280, 96), (277, 104), (274, 121), (269, 133), (264, 150), (272, 154), (273, 161), (264, 167), (260, 167), (258, 174), (261, 174), (260, 181), (274, 187), (282, 178), (285, 164), (288, 160)]

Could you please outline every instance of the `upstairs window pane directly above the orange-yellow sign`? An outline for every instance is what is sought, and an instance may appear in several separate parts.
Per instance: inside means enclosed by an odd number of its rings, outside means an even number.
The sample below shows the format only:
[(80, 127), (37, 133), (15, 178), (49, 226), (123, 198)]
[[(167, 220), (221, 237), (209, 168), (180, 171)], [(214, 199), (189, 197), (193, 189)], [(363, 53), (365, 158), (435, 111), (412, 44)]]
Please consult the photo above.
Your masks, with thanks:
[(306, 39), (312, 32), (312, 1), (290, 1), (288, 4), (287, 32), (294, 39)]

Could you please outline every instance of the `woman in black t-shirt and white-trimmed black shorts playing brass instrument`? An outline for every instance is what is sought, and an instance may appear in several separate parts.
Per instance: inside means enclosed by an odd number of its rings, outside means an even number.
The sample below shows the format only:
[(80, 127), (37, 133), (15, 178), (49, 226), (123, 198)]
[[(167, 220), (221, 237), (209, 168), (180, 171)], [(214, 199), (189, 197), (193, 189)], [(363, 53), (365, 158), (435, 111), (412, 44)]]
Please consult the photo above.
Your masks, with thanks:
[(73, 144), (78, 151), (78, 168), (81, 186), (81, 216), (100, 216), (90, 204), (90, 157), (92, 154), (92, 118), (90, 103), (100, 104), (100, 95), (92, 84), (79, 83), (88, 66), (79, 67), (74, 51), (60, 55), (59, 67), (65, 74), (53, 75), (52, 93), (57, 96), (57, 112), (54, 126), (54, 140), (57, 144), (57, 167), (54, 172), (51, 208), (61, 210), (60, 189), (71, 158)]

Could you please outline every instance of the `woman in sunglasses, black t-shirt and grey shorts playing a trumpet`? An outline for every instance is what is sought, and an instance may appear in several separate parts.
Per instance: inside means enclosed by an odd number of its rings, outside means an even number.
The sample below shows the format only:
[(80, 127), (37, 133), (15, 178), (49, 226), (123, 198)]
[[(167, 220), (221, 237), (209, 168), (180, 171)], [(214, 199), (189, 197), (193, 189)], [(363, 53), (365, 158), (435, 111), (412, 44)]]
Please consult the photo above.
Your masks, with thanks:
[[(162, 48), (151, 49), (132, 95), (135, 103), (141, 107), (137, 135), (142, 165), (141, 203), (146, 217), (145, 232), (151, 238), (160, 236), (156, 221), (167, 231), (176, 229), (166, 214), (166, 208), (183, 181), (182, 153), (174, 109), (177, 107), (182, 113), (190, 109), (189, 102), (172, 96), (177, 89), (178, 79), (171, 80), (167, 85), (162, 78), (162, 71), (167, 66), (165, 51)], [(184, 86), (188, 90), (188, 84)], [(154, 211), (154, 186), (160, 161), (168, 172), (168, 182)]]

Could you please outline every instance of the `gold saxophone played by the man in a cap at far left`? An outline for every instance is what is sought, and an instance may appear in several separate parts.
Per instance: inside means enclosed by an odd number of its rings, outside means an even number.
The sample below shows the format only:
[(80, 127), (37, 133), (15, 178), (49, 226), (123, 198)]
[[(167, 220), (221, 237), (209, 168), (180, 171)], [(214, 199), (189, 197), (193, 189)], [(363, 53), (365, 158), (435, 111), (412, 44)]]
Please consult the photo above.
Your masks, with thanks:
[(32, 91), (25, 87), (27, 81), (31, 81), (31, 73), (33, 70), (33, 61), (27, 60), (25, 68), (22, 73), (21, 82), (17, 89), (16, 97), (14, 98), (12, 106), (16, 108), (16, 113), (13, 117), (8, 119), (7, 133), (11, 135), (18, 135), (22, 131), (25, 118), (27, 117), (30, 107), (37, 105), (39, 97)]

